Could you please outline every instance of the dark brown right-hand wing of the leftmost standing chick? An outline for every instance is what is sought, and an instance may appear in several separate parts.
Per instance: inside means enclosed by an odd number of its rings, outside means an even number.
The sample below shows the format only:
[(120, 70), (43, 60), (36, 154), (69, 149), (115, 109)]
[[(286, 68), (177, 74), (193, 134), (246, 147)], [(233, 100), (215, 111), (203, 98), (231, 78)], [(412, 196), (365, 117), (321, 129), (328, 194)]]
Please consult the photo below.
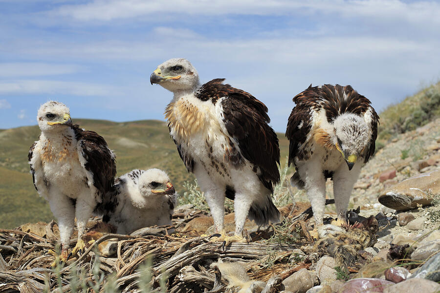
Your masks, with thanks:
[(114, 185), (116, 162), (114, 155), (102, 136), (94, 131), (72, 126), (76, 139), (81, 142), (83, 156), (86, 158), (86, 169), (93, 174), (93, 185), (100, 194), (106, 194)]

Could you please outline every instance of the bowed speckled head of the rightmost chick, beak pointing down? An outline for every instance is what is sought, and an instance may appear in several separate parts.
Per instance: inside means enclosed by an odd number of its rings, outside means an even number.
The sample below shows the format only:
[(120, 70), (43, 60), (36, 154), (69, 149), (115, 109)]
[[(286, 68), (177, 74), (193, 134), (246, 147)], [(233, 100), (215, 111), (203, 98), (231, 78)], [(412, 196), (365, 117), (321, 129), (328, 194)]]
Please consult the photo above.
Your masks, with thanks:
[(361, 117), (351, 113), (338, 116), (333, 127), (333, 143), (351, 170), (369, 142), (370, 131)]

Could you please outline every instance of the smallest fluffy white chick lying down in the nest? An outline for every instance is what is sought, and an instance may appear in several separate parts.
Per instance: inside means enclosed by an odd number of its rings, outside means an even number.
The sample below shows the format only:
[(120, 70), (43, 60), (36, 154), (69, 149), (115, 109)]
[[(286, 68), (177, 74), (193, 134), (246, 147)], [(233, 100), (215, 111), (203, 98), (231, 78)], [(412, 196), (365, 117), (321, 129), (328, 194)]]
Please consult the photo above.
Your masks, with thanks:
[(178, 194), (159, 169), (135, 169), (116, 180), (98, 213), (119, 234), (154, 225), (170, 225)]

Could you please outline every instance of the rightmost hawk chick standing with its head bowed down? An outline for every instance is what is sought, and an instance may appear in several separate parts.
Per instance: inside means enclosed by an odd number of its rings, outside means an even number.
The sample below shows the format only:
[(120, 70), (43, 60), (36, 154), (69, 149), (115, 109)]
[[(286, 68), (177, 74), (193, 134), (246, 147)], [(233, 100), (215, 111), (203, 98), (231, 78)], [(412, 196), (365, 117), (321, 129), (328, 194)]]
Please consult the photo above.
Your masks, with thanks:
[(379, 116), (350, 85), (310, 85), (293, 102), (286, 130), (289, 164), (296, 167), (290, 182), (307, 190), (316, 229), (323, 224), (326, 180), (332, 178), (338, 224), (345, 223), (361, 165), (374, 154)]

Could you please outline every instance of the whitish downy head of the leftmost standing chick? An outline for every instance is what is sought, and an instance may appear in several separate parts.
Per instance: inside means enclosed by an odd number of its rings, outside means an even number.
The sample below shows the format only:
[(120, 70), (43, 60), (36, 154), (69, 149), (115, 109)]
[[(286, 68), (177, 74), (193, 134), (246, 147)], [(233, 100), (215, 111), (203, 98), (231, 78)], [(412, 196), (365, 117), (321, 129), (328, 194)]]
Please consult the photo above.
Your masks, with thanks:
[(55, 101), (49, 101), (40, 106), (37, 122), (42, 131), (59, 131), (64, 130), (66, 126), (72, 126), (69, 108)]

